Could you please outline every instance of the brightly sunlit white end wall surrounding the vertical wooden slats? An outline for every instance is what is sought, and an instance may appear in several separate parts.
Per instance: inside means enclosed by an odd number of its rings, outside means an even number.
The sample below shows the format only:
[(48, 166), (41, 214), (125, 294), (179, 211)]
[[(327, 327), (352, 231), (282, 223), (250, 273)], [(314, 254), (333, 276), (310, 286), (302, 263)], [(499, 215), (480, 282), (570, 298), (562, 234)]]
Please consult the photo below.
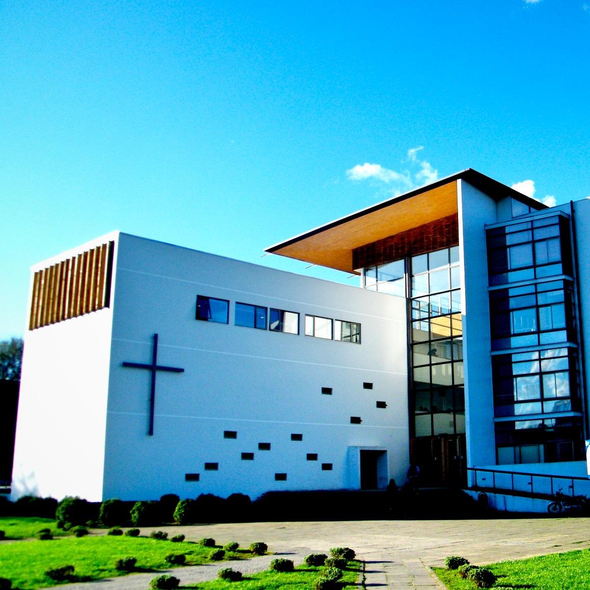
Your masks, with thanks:
[[(109, 234), (51, 258), (32, 274), (114, 239)], [(112, 310), (101, 309), (25, 332), (13, 499), (101, 499), (111, 325)]]

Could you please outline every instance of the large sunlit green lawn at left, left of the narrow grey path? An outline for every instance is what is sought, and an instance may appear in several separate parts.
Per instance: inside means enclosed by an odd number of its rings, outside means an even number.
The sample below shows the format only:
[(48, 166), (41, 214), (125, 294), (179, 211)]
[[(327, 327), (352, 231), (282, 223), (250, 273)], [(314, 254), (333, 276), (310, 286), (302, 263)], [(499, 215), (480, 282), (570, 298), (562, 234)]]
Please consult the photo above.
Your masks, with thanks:
[[(41, 527), (43, 528), (43, 527)], [(210, 563), (212, 548), (196, 543), (172, 543), (146, 537), (64, 537), (50, 541), (22, 541), (0, 545), (0, 578), (8, 578), (12, 586), (22, 590), (45, 588), (56, 584), (45, 576), (48, 569), (64, 565), (76, 567), (81, 578), (99, 579), (124, 575), (114, 569), (117, 559), (137, 558), (136, 571), (158, 571), (171, 566), (165, 557), (170, 553), (185, 553), (186, 565)], [(246, 553), (226, 554), (230, 559), (240, 559)], [(236, 562), (230, 562), (236, 563)], [(156, 575), (156, 574), (155, 574)]]

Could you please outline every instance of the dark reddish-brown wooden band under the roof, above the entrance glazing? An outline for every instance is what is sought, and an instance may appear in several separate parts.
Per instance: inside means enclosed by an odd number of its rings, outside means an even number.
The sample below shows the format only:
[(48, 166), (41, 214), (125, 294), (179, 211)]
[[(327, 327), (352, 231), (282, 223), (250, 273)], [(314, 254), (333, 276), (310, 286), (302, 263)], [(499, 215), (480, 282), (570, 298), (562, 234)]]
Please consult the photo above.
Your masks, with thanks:
[(365, 244), (352, 251), (353, 268), (363, 268), (450, 248), (459, 243), (459, 218), (455, 213), (424, 225)]

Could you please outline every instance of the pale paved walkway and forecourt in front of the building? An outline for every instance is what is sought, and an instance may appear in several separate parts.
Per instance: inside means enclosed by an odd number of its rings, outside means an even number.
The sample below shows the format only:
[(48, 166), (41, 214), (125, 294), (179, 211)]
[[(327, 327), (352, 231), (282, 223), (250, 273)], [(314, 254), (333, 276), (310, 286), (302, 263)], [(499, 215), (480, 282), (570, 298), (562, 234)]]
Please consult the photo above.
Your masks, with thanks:
[[(241, 572), (267, 569), (279, 555), (301, 563), (308, 553), (327, 553), (330, 547), (348, 546), (366, 561), (368, 588), (445, 588), (430, 566), (444, 565), (447, 555), (461, 555), (484, 565), (543, 553), (590, 548), (590, 519), (501, 520), (367, 520), (352, 522), (284, 522), (157, 527), (186, 540), (213, 537), (221, 545), (237, 541), (247, 547), (263, 541), (275, 555), (243, 560)], [(142, 534), (150, 530), (143, 528)], [(174, 568), (171, 573), (190, 584), (217, 576), (227, 562)], [(67, 590), (146, 590), (155, 573), (71, 584)], [(59, 586), (62, 590), (64, 586)]]

